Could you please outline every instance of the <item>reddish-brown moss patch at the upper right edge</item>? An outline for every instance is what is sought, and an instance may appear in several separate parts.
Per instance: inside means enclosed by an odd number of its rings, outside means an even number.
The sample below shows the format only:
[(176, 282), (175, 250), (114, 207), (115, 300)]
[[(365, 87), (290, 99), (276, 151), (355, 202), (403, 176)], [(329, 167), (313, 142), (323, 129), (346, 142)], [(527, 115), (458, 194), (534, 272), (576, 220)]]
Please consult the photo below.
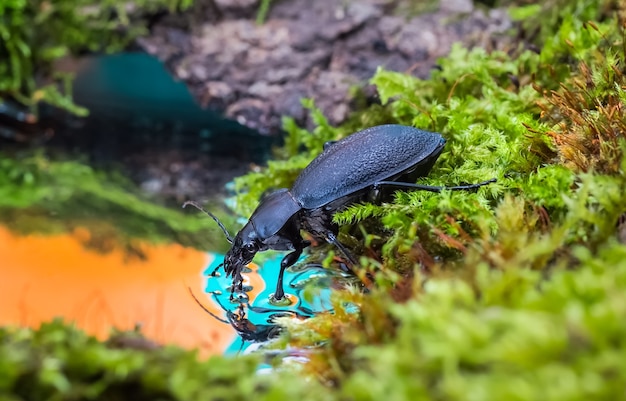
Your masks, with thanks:
[[(626, 89), (624, 74), (624, 25), (618, 36), (602, 35), (590, 61), (580, 61), (571, 78), (557, 90), (544, 90), (539, 106), (551, 124), (547, 135), (559, 161), (579, 172), (618, 174), (622, 159), (620, 141), (626, 139), (626, 105), (620, 92)], [(593, 23), (587, 29), (598, 31)]]

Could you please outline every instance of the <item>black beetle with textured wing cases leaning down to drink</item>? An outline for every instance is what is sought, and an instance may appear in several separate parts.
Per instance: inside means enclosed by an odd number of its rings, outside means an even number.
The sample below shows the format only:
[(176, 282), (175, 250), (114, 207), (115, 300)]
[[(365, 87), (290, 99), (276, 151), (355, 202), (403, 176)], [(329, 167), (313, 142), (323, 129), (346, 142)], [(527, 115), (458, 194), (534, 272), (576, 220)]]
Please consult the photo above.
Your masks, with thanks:
[[(257, 252), (292, 251), (281, 261), (274, 293), (275, 299), (282, 299), (285, 269), (310, 245), (300, 230), (335, 245), (355, 265), (355, 259), (337, 240), (339, 227), (332, 222), (337, 211), (354, 202), (376, 201), (385, 187), (440, 192), (474, 189), (495, 181), (455, 187), (396, 181), (415, 182), (418, 177), (426, 176), (445, 143), (437, 133), (403, 125), (371, 127), (327, 143), (324, 151), (302, 170), (290, 190), (279, 189), (261, 201), (234, 239), (215, 216), (205, 211), (218, 222), (232, 244), (218, 268), (224, 266), (226, 276), (233, 279), (233, 291), (235, 288), (241, 291), (241, 272)], [(193, 202), (187, 204), (200, 208)]]

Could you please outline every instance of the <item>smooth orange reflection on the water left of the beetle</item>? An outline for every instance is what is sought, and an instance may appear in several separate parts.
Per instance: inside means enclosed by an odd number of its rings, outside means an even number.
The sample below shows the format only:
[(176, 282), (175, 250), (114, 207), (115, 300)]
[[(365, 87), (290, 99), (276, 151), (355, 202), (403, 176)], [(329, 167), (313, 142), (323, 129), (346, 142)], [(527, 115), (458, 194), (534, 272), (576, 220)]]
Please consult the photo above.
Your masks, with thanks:
[(140, 324), (146, 337), (202, 355), (222, 353), (234, 340), (233, 329), (189, 294), (188, 287), (201, 294), (210, 255), (177, 244), (145, 245), (145, 259), (98, 253), (81, 244), (84, 235), (18, 236), (0, 227), (0, 325), (38, 327), (60, 316), (104, 339), (112, 326)]

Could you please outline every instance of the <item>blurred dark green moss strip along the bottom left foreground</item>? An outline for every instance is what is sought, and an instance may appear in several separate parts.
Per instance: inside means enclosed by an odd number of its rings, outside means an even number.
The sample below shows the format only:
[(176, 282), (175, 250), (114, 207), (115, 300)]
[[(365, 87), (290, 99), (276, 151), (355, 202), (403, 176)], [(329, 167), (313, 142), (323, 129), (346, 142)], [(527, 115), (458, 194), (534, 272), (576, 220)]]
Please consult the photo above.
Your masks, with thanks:
[[(121, 335), (135, 341), (120, 341)], [(319, 394), (315, 383), (285, 386), (277, 375), (255, 375), (255, 357), (201, 361), (195, 352), (159, 347), (137, 333), (115, 337), (99, 342), (59, 320), (38, 330), (0, 328), (0, 398), (281, 400)], [(281, 379), (293, 380), (288, 373)]]

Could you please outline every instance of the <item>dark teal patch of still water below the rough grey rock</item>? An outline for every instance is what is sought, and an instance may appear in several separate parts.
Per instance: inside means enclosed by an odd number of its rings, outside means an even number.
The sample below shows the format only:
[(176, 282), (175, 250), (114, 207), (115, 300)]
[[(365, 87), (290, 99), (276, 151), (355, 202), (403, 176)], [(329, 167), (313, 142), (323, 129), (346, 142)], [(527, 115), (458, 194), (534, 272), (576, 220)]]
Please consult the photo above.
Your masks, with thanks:
[(148, 147), (261, 163), (275, 144), (276, 138), (201, 107), (163, 63), (145, 53), (84, 58), (73, 95), (90, 116), (80, 127), (83, 135), (69, 133), (66, 146), (104, 161)]

